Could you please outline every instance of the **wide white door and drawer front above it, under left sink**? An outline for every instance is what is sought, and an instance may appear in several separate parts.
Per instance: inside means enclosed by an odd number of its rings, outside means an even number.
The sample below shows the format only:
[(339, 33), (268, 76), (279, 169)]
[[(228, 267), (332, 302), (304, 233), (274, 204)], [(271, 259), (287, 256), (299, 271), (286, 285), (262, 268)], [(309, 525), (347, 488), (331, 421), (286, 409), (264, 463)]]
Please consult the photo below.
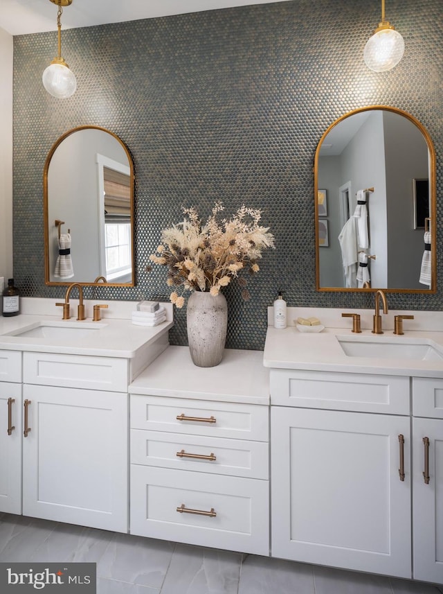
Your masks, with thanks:
[(127, 532), (128, 383), (127, 359), (24, 353), (23, 514)]

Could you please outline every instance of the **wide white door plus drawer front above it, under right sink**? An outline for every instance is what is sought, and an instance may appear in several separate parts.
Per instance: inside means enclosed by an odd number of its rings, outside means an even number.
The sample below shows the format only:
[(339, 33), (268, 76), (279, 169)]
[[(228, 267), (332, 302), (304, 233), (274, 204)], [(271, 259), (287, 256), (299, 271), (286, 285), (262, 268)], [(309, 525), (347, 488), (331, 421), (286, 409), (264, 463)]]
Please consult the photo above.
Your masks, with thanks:
[(408, 378), (271, 370), (274, 557), (410, 577), (408, 392)]

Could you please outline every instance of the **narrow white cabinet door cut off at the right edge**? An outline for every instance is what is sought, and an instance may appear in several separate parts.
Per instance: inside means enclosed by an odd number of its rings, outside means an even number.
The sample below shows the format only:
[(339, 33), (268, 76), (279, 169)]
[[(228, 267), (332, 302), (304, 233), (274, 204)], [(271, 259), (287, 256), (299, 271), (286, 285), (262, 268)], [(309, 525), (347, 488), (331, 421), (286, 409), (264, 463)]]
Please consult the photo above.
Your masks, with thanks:
[(443, 584), (443, 420), (413, 419), (413, 468), (414, 577)]

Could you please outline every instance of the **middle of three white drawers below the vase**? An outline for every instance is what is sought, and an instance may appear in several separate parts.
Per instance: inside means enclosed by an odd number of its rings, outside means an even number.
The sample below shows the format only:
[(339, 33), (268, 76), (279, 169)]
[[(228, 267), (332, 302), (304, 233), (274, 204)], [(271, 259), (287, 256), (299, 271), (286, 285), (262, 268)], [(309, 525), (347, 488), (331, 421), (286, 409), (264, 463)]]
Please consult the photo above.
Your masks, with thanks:
[(143, 466), (269, 478), (268, 444), (246, 439), (132, 429), (131, 462)]

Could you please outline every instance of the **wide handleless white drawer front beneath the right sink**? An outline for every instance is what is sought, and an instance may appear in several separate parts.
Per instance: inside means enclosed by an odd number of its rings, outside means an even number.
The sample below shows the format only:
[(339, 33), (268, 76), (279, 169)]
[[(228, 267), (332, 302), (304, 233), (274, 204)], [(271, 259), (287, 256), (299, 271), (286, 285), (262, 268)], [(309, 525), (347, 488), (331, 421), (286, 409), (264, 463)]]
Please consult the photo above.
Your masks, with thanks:
[(271, 404), (409, 414), (409, 378), (272, 369)]

